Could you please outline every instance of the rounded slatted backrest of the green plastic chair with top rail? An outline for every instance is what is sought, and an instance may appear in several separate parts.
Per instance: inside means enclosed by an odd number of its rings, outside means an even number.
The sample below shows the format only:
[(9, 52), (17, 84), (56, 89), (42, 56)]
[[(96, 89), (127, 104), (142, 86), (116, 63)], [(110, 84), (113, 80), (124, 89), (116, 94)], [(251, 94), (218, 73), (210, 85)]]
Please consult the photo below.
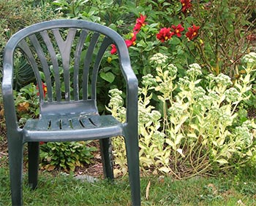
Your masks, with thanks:
[[(99, 65), (105, 54), (110, 55), (111, 44), (116, 44), (122, 70), (129, 65), (129, 55), (118, 33), (84, 20), (51, 20), (23, 28), (12, 36), (5, 48), (4, 64), (13, 68), (13, 57), (26, 58), (37, 80), (42, 113), (79, 110), (81, 101), (97, 111)], [(69, 103), (76, 106), (69, 107)]]

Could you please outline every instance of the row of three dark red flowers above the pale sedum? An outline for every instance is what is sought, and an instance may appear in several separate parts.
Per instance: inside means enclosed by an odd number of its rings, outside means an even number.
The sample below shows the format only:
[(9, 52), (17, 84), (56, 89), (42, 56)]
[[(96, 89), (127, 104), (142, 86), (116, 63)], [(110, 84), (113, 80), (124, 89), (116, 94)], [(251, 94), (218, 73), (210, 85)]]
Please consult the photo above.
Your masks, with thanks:
[[(189, 27), (189, 31), (186, 33), (187, 38), (189, 40), (195, 38), (195, 36), (198, 34), (199, 28), (200, 26), (196, 26), (195, 24), (192, 25), (192, 27)], [(173, 35), (176, 35), (180, 38), (182, 31), (184, 31), (184, 27), (182, 27), (181, 24), (178, 24), (177, 26), (172, 25), (171, 28), (161, 28), (159, 33), (157, 33), (157, 39), (164, 42), (170, 39)]]

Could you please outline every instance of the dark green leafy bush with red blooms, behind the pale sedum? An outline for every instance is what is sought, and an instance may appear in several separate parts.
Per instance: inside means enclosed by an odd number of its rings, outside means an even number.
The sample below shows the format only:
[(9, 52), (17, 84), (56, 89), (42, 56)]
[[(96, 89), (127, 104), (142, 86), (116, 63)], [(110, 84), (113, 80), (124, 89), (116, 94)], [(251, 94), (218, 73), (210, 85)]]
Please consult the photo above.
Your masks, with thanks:
[[(249, 19), (255, 12), (255, 1), (191, 1), (187, 7), (181, 3), (184, 1), (109, 0), (99, 4), (98, 0), (56, 0), (53, 1), (53, 7), (63, 12), (64, 17), (108, 25), (121, 33), (125, 40), (134, 35), (136, 18), (146, 15), (145, 25), (136, 33), (134, 44), (129, 46), (132, 68), (138, 79), (146, 74), (157, 74), (148, 59), (159, 52), (167, 55), (176, 65), (179, 77), (185, 75), (190, 64), (197, 62), (203, 74), (223, 73), (231, 79), (238, 78), (244, 72), (240, 64), (241, 57), (248, 49), (252, 49), (249, 36), (254, 22)], [(170, 28), (173, 33), (177, 25), (184, 28), (184, 31), (180, 31), (181, 36), (172, 34), (164, 42), (157, 39), (161, 28)], [(193, 25), (199, 29), (192, 37), (187, 33)], [(118, 78), (120, 71), (110, 70), (117, 64), (116, 55), (109, 55), (102, 63), (99, 96), (108, 100), (106, 87), (122, 90), (124, 85)], [(102, 101), (101, 110), (107, 102)]]

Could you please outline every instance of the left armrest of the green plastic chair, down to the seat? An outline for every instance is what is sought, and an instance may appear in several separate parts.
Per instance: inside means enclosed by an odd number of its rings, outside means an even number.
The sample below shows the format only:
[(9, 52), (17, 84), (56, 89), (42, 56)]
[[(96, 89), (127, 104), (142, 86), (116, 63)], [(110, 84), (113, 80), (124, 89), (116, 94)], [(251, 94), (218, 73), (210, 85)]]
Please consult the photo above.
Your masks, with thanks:
[(12, 66), (10, 63), (4, 63), (4, 76), (1, 84), (1, 90), (4, 100), (4, 116), (8, 130), (17, 130), (17, 116), (15, 112), (15, 101), (12, 90)]

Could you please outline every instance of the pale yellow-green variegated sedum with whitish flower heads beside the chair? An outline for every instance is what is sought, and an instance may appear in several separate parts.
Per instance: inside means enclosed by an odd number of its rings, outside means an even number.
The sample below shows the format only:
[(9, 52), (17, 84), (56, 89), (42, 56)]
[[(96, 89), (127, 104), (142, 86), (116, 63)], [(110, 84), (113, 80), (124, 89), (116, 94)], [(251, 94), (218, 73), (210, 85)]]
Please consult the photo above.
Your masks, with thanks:
[[(150, 60), (157, 75), (143, 76), (138, 102), (141, 169), (183, 178), (248, 162), (256, 167), (256, 125), (239, 114), (239, 104), (252, 89), (256, 54), (244, 57), (245, 74), (235, 82), (224, 74), (203, 78), (197, 63), (178, 78), (176, 66), (167, 63), (165, 55)], [(161, 111), (153, 106), (153, 95)], [(111, 90), (110, 97), (109, 111), (124, 120), (121, 91)], [(118, 148), (115, 163), (125, 173), (124, 142), (116, 138), (113, 148)]]

